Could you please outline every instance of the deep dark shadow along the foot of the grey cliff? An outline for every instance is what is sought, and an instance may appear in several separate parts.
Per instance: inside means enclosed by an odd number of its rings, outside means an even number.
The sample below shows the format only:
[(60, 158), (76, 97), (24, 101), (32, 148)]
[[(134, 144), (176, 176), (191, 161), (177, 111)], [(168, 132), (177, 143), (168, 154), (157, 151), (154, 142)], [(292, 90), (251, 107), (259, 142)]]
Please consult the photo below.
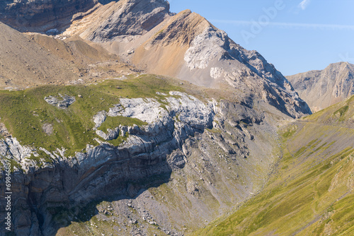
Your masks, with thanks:
[[(86, 176), (89, 179), (87, 184), (92, 185), (97, 182), (97, 187), (86, 186), (84, 189), (73, 189), (72, 191), (76, 192), (72, 193), (68, 192), (67, 187), (63, 184), (64, 189), (56, 190), (63, 191), (64, 194), (70, 196), (67, 199), (63, 198), (62, 202), (58, 201), (59, 199), (53, 201), (57, 197), (56, 194), (58, 194), (57, 191), (51, 191), (55, 187), (48, 187), (49, 190), (45, 189), (42, 192), (40, 198), (44, 201), (41, 203), (36, 201), (35, 194), (30, 192), (28, 194), (28, 205), (32, 207), (31, 212), (35, 213), (38, 218), (38, 228), (41, 235), (55, 236), (59, 228), (67, 227), (73, 222), (84, 223), (91, 220), (93, 216), (98, 214), (96, 206), (102, 201), (113, 202), (123, 199), (135, 199), (145, 190), (159, 187), (161, 184), (169, 182), (171, 178), (172, 168), (166, 160), (156, 165), (149, 165), (148, 162), (143, 161), (140, 168), (125, 164), (119, 161), (105, 163), (97, 168), (103, 168), (105, 171), (93, 171), (93, 174), (96, 175), (98, 173), (98, 176)], [(133, 174), (130, 176), (124, 172), (113, 172), (121, 167), (125, 170), (132, 170)], [(72, 175), (69, 174), (72, 170), (66, 172), (68, 175)], [(62, 172), (62, 175), (65, 175), (65, 171)], [(40, 178), (40, 174), (37, 177)], [(73, 179), (73, 182), (75, 180)], [(54, 196), (50, 196), (51, 194)], [(78, 197), (79, 195), (84, 196)]]

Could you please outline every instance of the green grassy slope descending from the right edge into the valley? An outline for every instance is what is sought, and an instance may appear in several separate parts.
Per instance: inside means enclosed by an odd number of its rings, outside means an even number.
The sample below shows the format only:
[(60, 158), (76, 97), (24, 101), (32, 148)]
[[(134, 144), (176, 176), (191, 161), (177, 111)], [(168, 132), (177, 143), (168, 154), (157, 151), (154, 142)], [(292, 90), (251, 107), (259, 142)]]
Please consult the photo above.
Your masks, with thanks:
[(354, 235), (354, 97), (280, 136), (265, 189), (194, 235)]

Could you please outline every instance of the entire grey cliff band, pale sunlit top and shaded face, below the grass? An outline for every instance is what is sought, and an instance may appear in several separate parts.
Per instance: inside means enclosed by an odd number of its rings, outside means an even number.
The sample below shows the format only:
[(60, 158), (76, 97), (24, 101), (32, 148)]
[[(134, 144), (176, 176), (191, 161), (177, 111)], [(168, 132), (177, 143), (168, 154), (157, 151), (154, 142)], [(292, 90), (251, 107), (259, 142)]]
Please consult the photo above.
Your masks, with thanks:
[[(197, 98), (185, 93), (171, 92), (170, 95), (166, 95), (166, 102), (169, 103), (166, 105), (167, 110), (160, 107), (161, 104), (153, 98), (124, 98), (120, 100), (124, 110), (120, 105), (115, 105), (108, 114), (100, 112), (93, 117), (96, 124), (104, 121), (105, 115), (133, 117), (148, 123), (141, 128), (137, 125), (118, 126), (108, 130), (108, 134), (97, 130), (97, 134), (105, 140), (117, 138), (120, 132), (129, 133), (127, 141), (118, 147), (108, 143), (101, 143), (96, 147), (87, 146), (86, 153), (76, 153), (74, 157), (68, 157), (59, 149), (50, 153), (39, 148), (50, 155), (50, 164), (38, 155), (36, 149), (21, 146), (16, 138), (0, 141), (1, 162), (4, 164), (4, 158), (11, 158), (21, 166), (21, 170), (17, 170), (13, 177), (13, 185), (21, 186), (17, 190), (13, 189), (13, 198), (27, 199), (35, 203), (37, 208), (34, 220), (33, 211), (30, 211), (32, 206), (25, 202), (21, 202), (21, 206), (18, 205), (20, 203), (15, 204), (14, 215), (19, 214), (22, 208), (28, 209), (27, 213), (21, 214), (21, 218), (14, 218), (15, 232), (21, 235), (50, 235), (56, 226), (51, 221), (48, 207), (74, 207), (102, 194), (124, 194), (129, 182), (127, 179), (139, 181), (151, 175), (169, 174), (173, 168), (183, 168), (184, 155), (178, 149), (195, 132), (210, 128), (215, 112)], [(59, 102), (54, 97), (46, 100), (58, 107), (65, 107), (73, 100), (68, 96), (62, 98), (63, 101)], [(180, 105), (181, 102), (183, 105)], [(179, 121), (176, 120), (177, 116), (180, 117)], [(38, 163), (30, 159), (30, 155), (39, 157), (42, 167), (38, 167)], [(101, 175), (102, 172), (105, 175)], [(160, 181), (164, 182), (164, 179)], [(3, 209), (0, 211), (4, 213)], [(45, 220), (40, 223), (38, 232), (38, 227), (33, 224), (42, 218)], [(18, 223), (18, 220), (22, 223)]]

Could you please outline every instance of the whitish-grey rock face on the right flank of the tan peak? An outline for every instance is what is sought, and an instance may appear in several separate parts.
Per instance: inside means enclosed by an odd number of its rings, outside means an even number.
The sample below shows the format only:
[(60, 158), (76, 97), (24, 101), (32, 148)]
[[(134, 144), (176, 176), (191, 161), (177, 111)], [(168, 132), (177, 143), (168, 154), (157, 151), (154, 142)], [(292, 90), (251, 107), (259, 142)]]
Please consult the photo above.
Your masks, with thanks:
[(272, 64), (258, 52), (237, 45), (222, 30), (206, 28), (191, 42), (184, 60), (190, 70), (185, 74), (226, 81), (244, 91), (240, 100), (263, 100), (290, 117), (311, 113), (306, 102)]

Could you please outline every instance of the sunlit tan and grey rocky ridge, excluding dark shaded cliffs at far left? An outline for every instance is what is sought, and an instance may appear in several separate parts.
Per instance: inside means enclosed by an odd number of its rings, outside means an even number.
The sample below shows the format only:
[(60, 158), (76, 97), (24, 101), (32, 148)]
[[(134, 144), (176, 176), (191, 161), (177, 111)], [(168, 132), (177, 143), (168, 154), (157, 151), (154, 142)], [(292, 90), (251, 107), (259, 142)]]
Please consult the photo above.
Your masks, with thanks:
[[(141, 8), (150, 6), (147, 1), (132, 2), (100, 6), (74, 20), (62, 35), (79, 35), (102, 43), (108, 51), (149, 73), (211, 88), (242, 90), (238, 99), (249, 106), (253, 100), (262, 100), (292, 117), (309, 114), (306, 102), (272, 64), (258, 52), (237, 45), (205, 18), (188, 10), (169, 13), (166, 1), (154, 1), (153, 8)], [(127, 9), (130, 14), (126, 14)], [(139, 26), (147, 23), (147, 28)]]

